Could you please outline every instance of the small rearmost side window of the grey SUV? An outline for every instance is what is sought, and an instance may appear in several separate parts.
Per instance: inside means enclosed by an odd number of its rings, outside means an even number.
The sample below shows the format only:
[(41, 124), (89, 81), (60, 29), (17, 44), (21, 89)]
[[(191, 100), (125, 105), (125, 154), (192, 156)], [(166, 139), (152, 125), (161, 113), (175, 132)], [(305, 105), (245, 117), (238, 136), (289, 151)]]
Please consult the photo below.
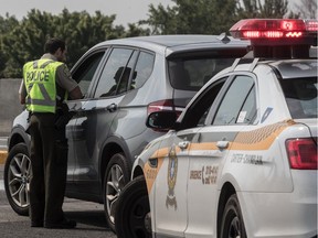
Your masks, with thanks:
[(136, 64), (135, 73), (132, 75), (131, 86), (140, 88), (145, 82), (150, 77), (155, 64), (155, 55), (148, 52), (140, 52), (138, 62)]

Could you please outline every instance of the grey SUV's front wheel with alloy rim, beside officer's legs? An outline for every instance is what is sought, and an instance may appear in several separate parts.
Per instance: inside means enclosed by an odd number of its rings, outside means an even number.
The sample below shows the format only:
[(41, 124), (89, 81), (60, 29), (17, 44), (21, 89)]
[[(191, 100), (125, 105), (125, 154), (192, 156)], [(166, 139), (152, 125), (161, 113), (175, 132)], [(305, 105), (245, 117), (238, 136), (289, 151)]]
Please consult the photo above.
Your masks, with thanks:
[(12, 209), (29, 215), (29, 187), (31, 161), (24, 143), (15, 144), (9, 152), (4, 165), (4, 190)]

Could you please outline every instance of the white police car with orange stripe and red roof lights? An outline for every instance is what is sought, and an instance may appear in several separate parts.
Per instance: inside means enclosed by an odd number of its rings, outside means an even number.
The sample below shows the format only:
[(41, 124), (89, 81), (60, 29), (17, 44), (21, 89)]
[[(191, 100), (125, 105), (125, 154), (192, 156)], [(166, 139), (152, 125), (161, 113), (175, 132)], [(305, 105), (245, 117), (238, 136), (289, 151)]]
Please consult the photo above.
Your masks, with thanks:
[(148, 117), (171, 130), (134, 163), (118, 238), (317, 237), (317, 29), (273, 19), (231, 29), (253, 57), (206, 83), (177, 123), (169, 111)]

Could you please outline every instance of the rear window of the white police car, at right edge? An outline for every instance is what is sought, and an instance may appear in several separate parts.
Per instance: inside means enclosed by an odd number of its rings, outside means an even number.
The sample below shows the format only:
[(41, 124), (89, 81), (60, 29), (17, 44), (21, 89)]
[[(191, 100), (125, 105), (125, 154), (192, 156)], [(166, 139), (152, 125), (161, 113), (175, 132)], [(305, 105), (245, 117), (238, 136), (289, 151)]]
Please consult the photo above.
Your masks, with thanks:
[(316, 77), (284, 79), (280, 85), (293, 118), (317, 118)]

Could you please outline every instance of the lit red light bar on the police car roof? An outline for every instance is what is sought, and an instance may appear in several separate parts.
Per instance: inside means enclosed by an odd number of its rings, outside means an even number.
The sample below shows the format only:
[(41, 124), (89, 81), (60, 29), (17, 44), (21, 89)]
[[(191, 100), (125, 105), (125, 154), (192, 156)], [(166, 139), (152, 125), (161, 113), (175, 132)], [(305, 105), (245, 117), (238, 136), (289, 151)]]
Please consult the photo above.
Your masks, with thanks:
[(257, 39), (300, 39), (311, 37), (318, 31), (318, 20), (300, 19), (246, 19), (234, 24), (230, 33), (233, 37)]

